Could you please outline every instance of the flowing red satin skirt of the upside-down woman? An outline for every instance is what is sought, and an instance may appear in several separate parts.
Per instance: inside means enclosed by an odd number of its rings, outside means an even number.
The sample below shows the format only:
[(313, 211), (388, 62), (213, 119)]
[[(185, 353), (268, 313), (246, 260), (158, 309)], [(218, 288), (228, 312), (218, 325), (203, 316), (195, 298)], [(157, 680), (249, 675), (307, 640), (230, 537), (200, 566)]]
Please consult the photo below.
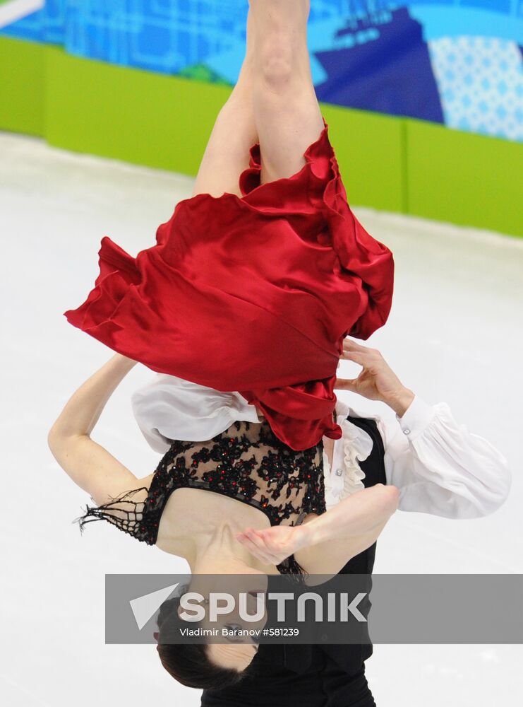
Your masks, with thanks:
[(299, 172), (261, 185), (253, 145), (242, 197), (179, 201), (136, 258), (102, 238), (95, 287), (65, 312), (152, 370), (240, 392), (294, 450), (342, 436), (342, 341), (367, 339), (392, 301), (392, 253), (352, 214), (323, 123)]

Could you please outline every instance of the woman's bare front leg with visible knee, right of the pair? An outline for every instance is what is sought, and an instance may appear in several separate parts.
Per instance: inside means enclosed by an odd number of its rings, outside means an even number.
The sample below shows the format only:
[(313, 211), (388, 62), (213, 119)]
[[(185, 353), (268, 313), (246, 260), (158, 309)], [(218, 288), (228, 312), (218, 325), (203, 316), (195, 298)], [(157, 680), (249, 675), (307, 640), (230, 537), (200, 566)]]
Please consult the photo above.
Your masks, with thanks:
[(261, 181), (290, 177), (323, 119), (307, 47), (310, 0), (249, 0), (253, 14), (253, 107)]

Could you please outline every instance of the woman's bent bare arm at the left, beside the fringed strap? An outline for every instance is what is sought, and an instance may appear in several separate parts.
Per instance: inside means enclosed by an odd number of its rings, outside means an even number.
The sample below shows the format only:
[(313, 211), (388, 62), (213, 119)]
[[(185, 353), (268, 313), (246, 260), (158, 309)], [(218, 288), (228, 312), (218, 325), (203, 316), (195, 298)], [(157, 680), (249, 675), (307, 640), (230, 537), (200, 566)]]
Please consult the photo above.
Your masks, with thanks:
[(62, 469), (99, 506), (121, 491), (136, 487), (135, 475), (90, 438), (112, 392), (135, 364), (120, 354), (113, 356), (80, 385), (47, 438)]

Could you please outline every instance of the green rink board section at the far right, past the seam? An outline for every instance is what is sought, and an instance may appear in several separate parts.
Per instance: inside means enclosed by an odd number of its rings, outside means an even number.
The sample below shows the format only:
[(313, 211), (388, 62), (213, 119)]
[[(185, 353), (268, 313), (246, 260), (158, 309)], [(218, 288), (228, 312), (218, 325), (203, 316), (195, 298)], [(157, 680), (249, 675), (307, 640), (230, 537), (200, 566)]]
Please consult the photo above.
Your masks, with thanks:
[(407, 213), (523, 236), (523, 144), (406, 125)]

